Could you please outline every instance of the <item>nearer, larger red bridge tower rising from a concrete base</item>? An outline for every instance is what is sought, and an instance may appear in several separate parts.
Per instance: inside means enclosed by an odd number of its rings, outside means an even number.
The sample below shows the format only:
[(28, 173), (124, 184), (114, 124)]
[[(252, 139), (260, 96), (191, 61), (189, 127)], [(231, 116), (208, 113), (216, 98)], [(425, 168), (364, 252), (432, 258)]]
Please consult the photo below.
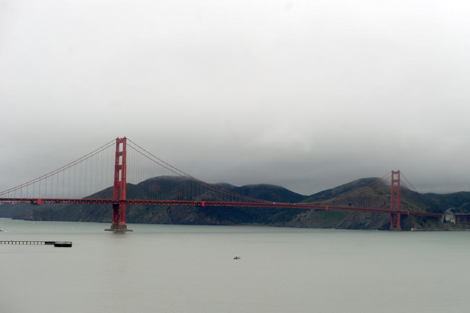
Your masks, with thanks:
[(113, 204), (113, 224), (105, 230), (132, 231), (126, 225), (126, 143), (126, 137), (116, 138), (113, 200), (119, 203)]

